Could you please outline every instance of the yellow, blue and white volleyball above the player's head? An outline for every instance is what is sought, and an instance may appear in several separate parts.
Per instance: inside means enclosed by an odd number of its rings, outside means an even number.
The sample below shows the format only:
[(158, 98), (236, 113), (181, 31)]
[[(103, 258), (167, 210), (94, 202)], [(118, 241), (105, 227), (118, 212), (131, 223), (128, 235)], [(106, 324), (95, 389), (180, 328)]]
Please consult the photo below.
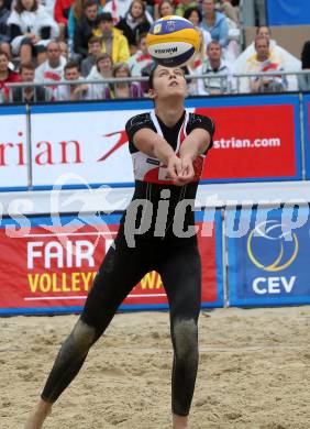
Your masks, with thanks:
[(196, 28), (185, 18), (169, 15), (155, 21), (146, 36), (150, 55), (167, 67), (185, 65), (199, 50)]

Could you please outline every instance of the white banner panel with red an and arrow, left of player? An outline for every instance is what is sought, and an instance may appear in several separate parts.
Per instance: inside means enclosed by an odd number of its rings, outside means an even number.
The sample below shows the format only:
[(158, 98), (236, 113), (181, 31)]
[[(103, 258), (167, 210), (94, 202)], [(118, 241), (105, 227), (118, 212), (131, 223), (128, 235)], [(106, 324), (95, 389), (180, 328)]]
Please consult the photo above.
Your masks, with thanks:
[[(51, 108), (49, 108), (51, 109)], [(142, 110), (31, 116), (33, 186), (133, 183), (126, 121)]]

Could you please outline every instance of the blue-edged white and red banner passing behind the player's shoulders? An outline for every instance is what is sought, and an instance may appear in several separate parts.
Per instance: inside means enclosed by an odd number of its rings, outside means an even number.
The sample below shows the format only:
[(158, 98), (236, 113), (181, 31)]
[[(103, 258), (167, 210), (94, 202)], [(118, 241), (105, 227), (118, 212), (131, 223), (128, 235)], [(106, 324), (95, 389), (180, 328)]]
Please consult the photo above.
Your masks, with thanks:
[[(126, 121), (151, 101), (35, 106), (31, 113), (34, 188), (132, 186)], [(187, 100), (215, 122), (202, 183), (301, 179), (298, 96)]]

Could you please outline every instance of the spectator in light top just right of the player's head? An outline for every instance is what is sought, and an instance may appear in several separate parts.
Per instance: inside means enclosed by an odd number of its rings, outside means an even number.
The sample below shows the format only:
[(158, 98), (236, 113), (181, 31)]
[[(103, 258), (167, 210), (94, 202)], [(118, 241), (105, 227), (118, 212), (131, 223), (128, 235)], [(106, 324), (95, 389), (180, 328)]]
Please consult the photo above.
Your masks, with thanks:
[[(197, 68), (197, 75), (208, 75), (197, 79), (197, 95), (229, 94), (234, 89), (232, 68), (222, 58), (222, 46), (212, 41), (207, 47), (208, 58)], [(221, 76), (226, 77), (221, 78)]]

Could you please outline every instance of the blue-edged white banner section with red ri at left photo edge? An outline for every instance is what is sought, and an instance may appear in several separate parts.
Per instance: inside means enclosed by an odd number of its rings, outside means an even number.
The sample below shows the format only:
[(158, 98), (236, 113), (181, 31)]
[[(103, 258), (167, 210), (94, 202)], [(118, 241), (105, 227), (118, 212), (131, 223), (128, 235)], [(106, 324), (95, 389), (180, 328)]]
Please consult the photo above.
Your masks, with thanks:
[(0, 190), (27, 187), (27, 132), (24, 106), (0, 109)]

